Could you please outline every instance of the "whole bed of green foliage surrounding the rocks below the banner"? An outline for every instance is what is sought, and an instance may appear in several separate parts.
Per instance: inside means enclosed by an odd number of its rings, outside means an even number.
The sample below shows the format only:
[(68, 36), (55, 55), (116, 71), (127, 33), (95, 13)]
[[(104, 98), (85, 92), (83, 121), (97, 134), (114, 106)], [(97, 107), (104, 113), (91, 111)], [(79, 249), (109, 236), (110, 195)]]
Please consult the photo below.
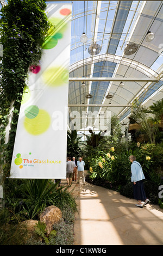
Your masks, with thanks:
[[(5, 208), (0, 210), (0, 244), (54, 245), (64, 240), (72, 245), (74, 214), (77, 211), (76, 198), (73, 196), (73, 190), (69, 192), (67, 186), (58, 187), (57, 185), (53, 180), (5, 180)], [(48, 235), (45, 226), (39, 223), (36, 231), (37, 234), (42, 235), (43, 241), (28, 239), (27, 242), (25, 239), (26, 229), (21, 231), (18, 224), (30, 219), (39, 221), (41, 212), (49, 205), (55, 205), (62, 211), (63, 221), (58, 225), (60, 228), (61, 225), (64, 227), (64, 237), (61, 237), (63, 233), (60, 232), (55, 243), (56, 231), (53, 230)], [(24, 234), (24, 238), (21, 237), (21, 234)]]

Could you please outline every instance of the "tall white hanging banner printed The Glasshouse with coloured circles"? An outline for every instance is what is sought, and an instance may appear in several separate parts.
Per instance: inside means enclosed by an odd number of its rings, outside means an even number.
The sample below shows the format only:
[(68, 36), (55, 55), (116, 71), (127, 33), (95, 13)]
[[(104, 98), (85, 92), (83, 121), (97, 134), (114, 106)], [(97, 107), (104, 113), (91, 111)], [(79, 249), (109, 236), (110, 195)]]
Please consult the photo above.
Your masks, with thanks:
[(10, 178), (66, 178), (71, 4), (47, 4), (46, 14), (53, 26), (24, 88)]

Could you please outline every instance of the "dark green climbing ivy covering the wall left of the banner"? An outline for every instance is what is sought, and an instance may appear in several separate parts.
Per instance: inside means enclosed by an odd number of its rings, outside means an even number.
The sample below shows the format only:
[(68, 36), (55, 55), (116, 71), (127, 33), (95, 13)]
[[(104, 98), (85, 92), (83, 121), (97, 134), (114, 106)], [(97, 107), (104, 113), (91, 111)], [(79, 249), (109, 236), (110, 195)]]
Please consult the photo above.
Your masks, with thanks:
[[(41, 45), (50, 27), (45, 8), (43, 0), (8, 0), (8, 4), (1, 9), (0, 43), (3, 45), (3, 57), (0, 57), (0, 164), (3, 172), (10, 169), (18, 113), (23, 90), (28, 82), (29, 67), (39, 63)], [(11, 130), (9, 142), (5, 143), (11, 105)]]

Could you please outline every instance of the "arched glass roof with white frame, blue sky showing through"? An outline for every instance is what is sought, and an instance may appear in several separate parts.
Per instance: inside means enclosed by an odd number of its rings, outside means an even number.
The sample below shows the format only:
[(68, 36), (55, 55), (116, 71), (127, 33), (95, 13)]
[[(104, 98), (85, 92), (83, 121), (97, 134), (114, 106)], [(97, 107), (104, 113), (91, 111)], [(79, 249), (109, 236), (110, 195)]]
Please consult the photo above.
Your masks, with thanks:
[[(4, 2), (4, 1), (0, 1)], [(134, 99), (150, 106), (163, 95), (163, 2), (162, 1), (49, 1), (49, 3), (70, 3), (72, 5), (70, 78), (83, 81), (69, 82), (69, 113), (107, 111), (118, 115), (128, 123)], [(148, 32), (154, 33), (152, 41), (146, 41)], [(80, 36), (87, 35), (83, 44)], [(92, 44), (98, 44), (101, 51), (89, 53)], [(134, 44), (135, 52), (128, 55), (126, 47)], [(130, 46), (131, 47), (131, 46)], [(84, 78), (104, 78), (104, 81), (86, 81)], [(106, 78), (120, 78), (108, 81)], [(135, 81), (127, 81), (135, 78)], [(146, 81), (140, 81), (146, 78)], [(155, 81), (148, 81), (155, 78)], [(126, 79), (126, 81), (125, 81)], [(87, 94), (91, 99), (86, 99)], [(107, 94), (111, 99), (106, 99)], [(90, 105), (91, 106), (88, 106)], [(71, 106), (73, 105), (73, 106)], [(83, 105), (82, 107), (80, 105)], [(93, 106), (96, 105), (96, 106)], [(106, 106), (104, 106), (106, 105)], [(110, 105), (110, 106), (109, 106)], [(85, 115), (84, 126), (87, 126)], [(70, 119), (71, 120), (71, 119)], [(96, 118), (95, 118), (95, 123)], [(83, 123), (82, 123), (83, 125)], [(96, 127), (96, 126), (95, 126)]]

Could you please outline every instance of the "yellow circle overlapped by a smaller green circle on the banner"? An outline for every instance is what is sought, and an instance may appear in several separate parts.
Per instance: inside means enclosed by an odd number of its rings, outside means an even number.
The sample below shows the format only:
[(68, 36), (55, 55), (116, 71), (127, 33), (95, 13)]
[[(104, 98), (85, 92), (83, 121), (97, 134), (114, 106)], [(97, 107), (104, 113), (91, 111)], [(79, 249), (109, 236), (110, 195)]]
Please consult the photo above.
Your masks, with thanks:
[(27, 132), (31, 135), (40, 135), (43, 132), (47, 131), (49, 125), (51, 124), (51, 117), (47, 113), (47, 111), (43, 109), (39, 109), (39, 113), (36, 115), (35, 118), (28, 118), (24, 119), (24, 127)]

